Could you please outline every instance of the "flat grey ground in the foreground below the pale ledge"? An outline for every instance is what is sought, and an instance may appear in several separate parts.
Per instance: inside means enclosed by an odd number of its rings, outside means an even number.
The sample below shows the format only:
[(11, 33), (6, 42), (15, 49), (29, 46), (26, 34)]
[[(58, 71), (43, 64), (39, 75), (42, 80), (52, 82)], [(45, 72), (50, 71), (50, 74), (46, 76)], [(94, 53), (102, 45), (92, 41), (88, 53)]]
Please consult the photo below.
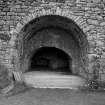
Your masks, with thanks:
[(17, 95), (0, 97), (0, 105), (105, 105), (104, 92), (69, 89), (30, 88)]

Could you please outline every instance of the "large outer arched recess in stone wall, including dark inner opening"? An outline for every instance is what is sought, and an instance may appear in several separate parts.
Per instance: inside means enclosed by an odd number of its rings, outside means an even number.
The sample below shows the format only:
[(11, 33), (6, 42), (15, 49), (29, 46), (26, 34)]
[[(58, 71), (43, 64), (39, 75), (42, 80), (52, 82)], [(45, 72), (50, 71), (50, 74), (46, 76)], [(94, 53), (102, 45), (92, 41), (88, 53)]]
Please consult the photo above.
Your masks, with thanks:
[[(63, 64), (60, 69), (64, 68), (73, 74), (87, 75), (88, 41), (73, 20), (58, 15), (35, 18), (23, 27), (18, 39), (19, 63), (22, 72), (36, 69), (39, 65), (56, 71), (51, 64), (56, 58), (58, 63), (62, 62), (66, 65), (64, 67)], [(58, 55), (56, 57), (55, 52), (60, 52), (61, 56), (58, 54), (60, 59)], [(49, 54), (49, 58), (46, 53)]]

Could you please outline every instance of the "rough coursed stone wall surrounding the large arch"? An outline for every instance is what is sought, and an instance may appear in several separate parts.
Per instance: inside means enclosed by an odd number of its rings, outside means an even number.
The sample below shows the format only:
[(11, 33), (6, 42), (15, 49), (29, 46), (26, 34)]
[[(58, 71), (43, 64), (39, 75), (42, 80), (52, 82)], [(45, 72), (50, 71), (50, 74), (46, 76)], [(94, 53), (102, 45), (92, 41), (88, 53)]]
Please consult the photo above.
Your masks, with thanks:
[(105, 80), (105, 0), (0, 0), (2, 64), (10, 71), (17, 66), (18, 33), (30, 20), (49, 14), (72, 19), (83, 30), (89, 42), (89, 73), (98, 62), (99, 79)]

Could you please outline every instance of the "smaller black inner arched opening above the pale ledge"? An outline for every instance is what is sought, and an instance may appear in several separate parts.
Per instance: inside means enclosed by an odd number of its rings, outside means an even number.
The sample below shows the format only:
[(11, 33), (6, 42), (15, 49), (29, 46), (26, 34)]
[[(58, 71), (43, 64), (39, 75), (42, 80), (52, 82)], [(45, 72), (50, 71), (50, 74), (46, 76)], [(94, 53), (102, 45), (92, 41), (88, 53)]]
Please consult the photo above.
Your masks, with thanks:
[(68, 54), (55, 47), (42, 47), (31, 57), (30, 71), (51, 71), (71, 74), (72, 60)]

